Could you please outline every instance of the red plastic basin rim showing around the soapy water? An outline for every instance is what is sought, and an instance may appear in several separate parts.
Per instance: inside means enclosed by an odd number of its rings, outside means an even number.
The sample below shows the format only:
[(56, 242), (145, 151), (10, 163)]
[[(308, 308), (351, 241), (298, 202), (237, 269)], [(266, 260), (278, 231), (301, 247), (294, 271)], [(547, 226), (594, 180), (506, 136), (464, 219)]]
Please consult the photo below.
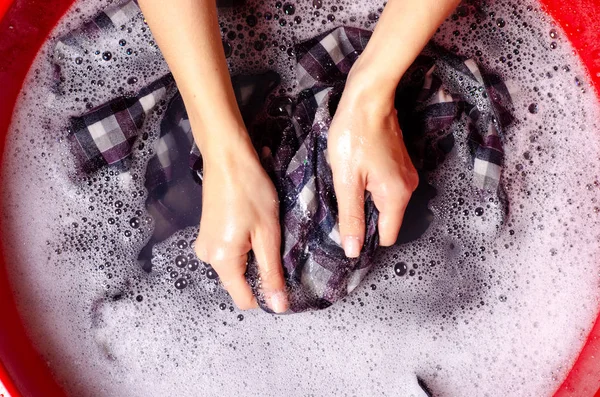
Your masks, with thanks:
[[(410, 0), (409, 0), (410, 1)], [(600, 92), (600, 0), (542, 0), (563, 27)], [(72, 0), (0, 0), (0, 163), (4, 138), (23, 80), (50, 30)], [(11, 26), (24, 27), (12, 29)], [(600, 131), (599, 131), (600, 133)], [(0, 184), (1, 186), (1, 184)], [(0, 228), (1, 231), (1, 228)], [(48, 366), (28, 340), (6, 276), (13, 264), (0, 234), (0, 381), (18, 396), (62, 396)], [(598, 358), (596, 358), (598, 357)], [(600, 318), (555, 396), (600, 396)]]

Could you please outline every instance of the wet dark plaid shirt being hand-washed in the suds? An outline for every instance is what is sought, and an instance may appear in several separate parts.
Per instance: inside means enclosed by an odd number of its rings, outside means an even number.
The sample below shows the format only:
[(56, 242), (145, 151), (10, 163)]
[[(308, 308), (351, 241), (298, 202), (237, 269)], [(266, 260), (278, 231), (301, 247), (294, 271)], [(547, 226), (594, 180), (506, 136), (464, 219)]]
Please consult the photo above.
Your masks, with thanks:
[[(80, 34), (70, 34), (57, 51), (63, 56), (76, 53), (72, 43), (80, 42)], [(291, 312), (330, 306), (352, 292), (373, 265), (378, 212), (367, 197), (363, 251), (359, 258), (346, 258), (340, 246), (327, 156), (328, 128), (345, 78), (370, 36), (366, 30), (339, 27), (298, 44), (299, 94), (295, 97), (269, 97), (279, 83), (275, 72), (232, 79), (249, 133), (279, 194), (282, 261)], [(147, 271), (152, 269), (154, 244), (184, 227), (197, 226), (201, 218), (202, 158), (193, 145), (172, 77), (164, 76), (134, 97), (115, 98), (70, 120), (69, 137), (82, 172), (94, 173), (103, 167), (125, 172), (144, 121), (165, 100), (170, 102), (145, 175), (146, 205), (155, 220), (154, 234), (140, 253)], [(503, 198), (500, 137), (512, 116), (510, 94), (498, 76), (486, 73), (473, 60), (430, 44), (400, 83), (396, 107), (419, 171), (433, 170), (443, 162), (455, 145), (453, 128), (468, 128), (463, 143), (473, 158), (473, 184), (481, 192)], [(251, 253), (248, 279), (259, 303), (268, 310), (260, 299), (257, 264)]]

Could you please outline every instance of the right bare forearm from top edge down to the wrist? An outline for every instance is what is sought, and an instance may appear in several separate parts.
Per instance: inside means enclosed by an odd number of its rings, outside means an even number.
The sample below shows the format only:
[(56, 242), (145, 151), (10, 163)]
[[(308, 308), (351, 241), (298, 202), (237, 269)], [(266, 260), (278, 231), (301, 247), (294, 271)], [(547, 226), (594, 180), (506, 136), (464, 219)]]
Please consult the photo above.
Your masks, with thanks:
[[(350, 77), (393, 96), (402, 75), (460, 0), (389, 0)], [(366, 88), (365, 88), (366, 89)]]

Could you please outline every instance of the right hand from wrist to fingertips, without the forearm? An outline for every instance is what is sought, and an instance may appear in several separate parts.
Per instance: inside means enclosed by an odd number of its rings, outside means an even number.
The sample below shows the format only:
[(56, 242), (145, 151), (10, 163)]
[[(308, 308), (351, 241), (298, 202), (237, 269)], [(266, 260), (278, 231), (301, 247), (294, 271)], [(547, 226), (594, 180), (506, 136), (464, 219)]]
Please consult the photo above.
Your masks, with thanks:
[(339, 208), (342, 247), (359, 256), (365, 239), (365, 191), (379, 210), (379, 243), (396, 242), (419, 177), (408, 156), (394, 109), (394, 83), (351, 71), (329, 129), (328, 151)]

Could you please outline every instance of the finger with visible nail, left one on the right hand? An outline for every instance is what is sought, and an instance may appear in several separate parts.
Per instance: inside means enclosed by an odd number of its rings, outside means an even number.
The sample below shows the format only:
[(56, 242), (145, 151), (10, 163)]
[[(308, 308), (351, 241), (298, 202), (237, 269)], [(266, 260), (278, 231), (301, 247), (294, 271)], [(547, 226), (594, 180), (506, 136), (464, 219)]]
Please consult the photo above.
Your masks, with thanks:
[(357, 258), (365, 240), (365, 185), (356, 178), (338, 183), (334, 180), (334, 189), (342, 248), (348, 258)]

